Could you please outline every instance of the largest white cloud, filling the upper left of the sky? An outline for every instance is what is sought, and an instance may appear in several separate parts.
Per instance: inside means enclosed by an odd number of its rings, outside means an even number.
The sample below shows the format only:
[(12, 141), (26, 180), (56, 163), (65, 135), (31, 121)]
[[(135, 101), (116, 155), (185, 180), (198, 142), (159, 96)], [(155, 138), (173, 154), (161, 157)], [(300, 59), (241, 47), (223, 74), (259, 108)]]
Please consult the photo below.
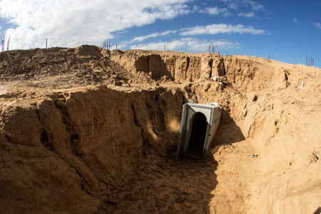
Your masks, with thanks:
[[(98, 43), (113, 38), (113, 32), (132, 26), (173, 19), (190, 10), (189, 0), (1, 0), (0, 17), (17, 27), (6, 30), (11, 49), (44, 44), (77, 46), (80, 41)], [(55, 41), (55, 44), (52, 44)]]

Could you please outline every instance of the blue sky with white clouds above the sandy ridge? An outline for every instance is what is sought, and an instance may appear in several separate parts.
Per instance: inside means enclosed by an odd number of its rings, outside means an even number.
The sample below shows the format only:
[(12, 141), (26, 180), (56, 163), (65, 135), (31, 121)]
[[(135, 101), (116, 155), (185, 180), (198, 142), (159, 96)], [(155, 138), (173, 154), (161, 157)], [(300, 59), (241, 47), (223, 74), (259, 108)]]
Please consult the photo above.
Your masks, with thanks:
[[(259, 56), (321, 68), (321, 1), (0, 0), (5, 50), (75, 47)], [(1, 51), (1, 50), (0, 50)], [(211, 50), (212, 51), (212, 50)]]

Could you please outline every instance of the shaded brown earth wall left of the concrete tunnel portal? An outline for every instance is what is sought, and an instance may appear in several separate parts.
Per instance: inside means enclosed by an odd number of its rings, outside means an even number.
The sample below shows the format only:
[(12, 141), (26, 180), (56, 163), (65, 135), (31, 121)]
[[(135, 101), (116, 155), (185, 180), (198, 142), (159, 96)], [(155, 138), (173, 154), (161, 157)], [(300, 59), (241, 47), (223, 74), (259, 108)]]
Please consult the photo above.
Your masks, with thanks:
[[(113, 203), (136, 161), (175, 145), (183, 93), (131, 93), (106, 86), (52, 93), (40, 103), (1, 111), (1, 203), (18, 210), (92, 212)], [(175, 143), (171, 142), (171, 143)]]

